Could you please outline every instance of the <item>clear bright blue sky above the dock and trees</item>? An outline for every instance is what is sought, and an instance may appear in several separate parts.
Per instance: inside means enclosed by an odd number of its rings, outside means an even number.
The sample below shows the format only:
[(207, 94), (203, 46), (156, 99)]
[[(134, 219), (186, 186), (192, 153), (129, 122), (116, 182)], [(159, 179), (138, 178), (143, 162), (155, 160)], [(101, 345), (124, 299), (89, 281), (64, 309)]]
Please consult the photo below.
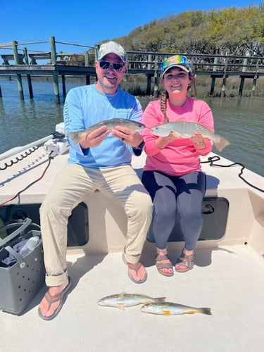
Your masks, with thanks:
[[(12, 42), (56, 42), (94, 46), (105, 39), (129, 34), (135, 28), (155, 19), (184, 11), (210, 11), (235, 6), (258, 6), (258, 0), (0, 0), (0, 44)], [(28, 49), (49, 51), (49, 44), (25, 45)], [(24, 46), (21, 46), (21, 49)], [(56, 44), (56, 51), (68, 52), (65, 44)], [(85, 49), (76, 46), (75, 52)], [(7, 54), (0, 49), (0, 54)], [(71, 50), (73, 52), (73, 49)]]

